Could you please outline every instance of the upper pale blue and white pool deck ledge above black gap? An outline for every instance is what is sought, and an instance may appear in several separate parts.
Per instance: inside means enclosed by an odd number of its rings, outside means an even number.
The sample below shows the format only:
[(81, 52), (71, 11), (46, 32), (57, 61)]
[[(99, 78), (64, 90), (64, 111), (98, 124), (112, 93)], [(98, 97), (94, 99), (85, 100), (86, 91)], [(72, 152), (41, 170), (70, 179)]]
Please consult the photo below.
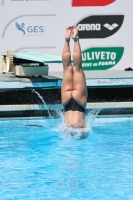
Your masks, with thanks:
[[(133, 71), (86, 71), (87, 87), (133, 87)], [(13, 73), (0, 74), (0, 90), (61, 88), (62, 72), (49, 76), (19, 78)]]

